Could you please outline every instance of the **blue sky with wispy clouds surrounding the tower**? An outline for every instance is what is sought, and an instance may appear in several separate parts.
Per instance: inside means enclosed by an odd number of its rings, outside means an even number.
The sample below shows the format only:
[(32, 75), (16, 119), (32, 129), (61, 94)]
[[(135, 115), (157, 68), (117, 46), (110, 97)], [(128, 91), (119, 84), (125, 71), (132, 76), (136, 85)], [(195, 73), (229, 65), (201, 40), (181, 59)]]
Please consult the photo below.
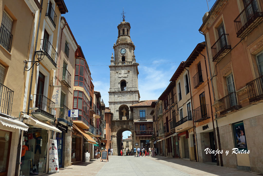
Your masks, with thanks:
[[(136, 62), (140, 64), (140, 100), (158, 99), (179, 63), (204, 41), (198, 29), (208, 11), (206, 0), (64, 1), (69, 12), (62, 16), (83, 50), (94, 90), (101, 92), (106, 107), (109, 104), (108, 65), (118, 37), (117, 26), (122, 21), (123, 8), (125, 20), (131, 25)], [(209, 8), (214, 2), (208, 2)]]

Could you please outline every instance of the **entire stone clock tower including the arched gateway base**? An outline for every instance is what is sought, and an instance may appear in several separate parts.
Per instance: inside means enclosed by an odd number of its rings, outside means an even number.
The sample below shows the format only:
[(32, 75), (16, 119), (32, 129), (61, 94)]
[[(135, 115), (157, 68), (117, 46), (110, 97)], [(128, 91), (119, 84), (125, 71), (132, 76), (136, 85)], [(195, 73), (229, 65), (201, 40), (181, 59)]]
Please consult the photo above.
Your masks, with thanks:
[(109, 65), (109, 109), (113, 113), (111, 122), (113, 155), (120, 155), (124, 131), (131, 131), (132, 147), (134, 147), (134, 123), (130, 106), (138, 103), (140, 99), (138, 90), (139, 64), (136, 63), (135, 46), (130, 39), (130, 23), (123, 19), (123, 22), (118, 25), (117, 32), (119, 35), (113, 45), (114, 56), (112, 54)]

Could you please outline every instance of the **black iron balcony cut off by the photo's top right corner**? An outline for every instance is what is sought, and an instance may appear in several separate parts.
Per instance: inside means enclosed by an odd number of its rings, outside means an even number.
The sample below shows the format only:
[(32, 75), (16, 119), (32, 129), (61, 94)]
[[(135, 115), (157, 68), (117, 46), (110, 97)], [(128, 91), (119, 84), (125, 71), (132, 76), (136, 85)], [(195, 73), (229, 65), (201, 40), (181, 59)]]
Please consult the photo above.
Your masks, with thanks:
[(263, 20), (262, 3), (262, 0), (251, 0), (234, 20), (237, 37), (246, 37)]

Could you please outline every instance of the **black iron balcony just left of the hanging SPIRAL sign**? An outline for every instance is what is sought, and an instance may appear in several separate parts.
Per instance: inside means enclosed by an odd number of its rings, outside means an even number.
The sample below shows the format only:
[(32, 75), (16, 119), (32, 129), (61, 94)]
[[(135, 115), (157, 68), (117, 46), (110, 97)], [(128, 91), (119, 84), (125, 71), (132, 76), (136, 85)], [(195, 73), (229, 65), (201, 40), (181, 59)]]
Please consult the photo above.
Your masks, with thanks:
[(54, 119), (55, 103), (43, 94), (34, 94), (34, 96), (36, 97), (35, 107), (37, 107), (38, 109), (32, 112), (40, 112), (50, 117), (51, 119)]

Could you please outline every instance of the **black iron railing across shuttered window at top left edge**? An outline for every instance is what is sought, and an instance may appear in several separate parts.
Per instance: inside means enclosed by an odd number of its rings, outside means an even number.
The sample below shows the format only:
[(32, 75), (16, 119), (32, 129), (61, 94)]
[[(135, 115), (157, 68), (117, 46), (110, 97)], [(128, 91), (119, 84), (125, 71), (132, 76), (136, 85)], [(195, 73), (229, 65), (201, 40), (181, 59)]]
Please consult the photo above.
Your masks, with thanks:
[(11, 32), (7, 30), (6, 27), (4, 27), (3, 24), (1, 24), (0, 29), (0, 44), (7, 50), (11, 51), (11, 44), (12, 44), (13, 35)]

